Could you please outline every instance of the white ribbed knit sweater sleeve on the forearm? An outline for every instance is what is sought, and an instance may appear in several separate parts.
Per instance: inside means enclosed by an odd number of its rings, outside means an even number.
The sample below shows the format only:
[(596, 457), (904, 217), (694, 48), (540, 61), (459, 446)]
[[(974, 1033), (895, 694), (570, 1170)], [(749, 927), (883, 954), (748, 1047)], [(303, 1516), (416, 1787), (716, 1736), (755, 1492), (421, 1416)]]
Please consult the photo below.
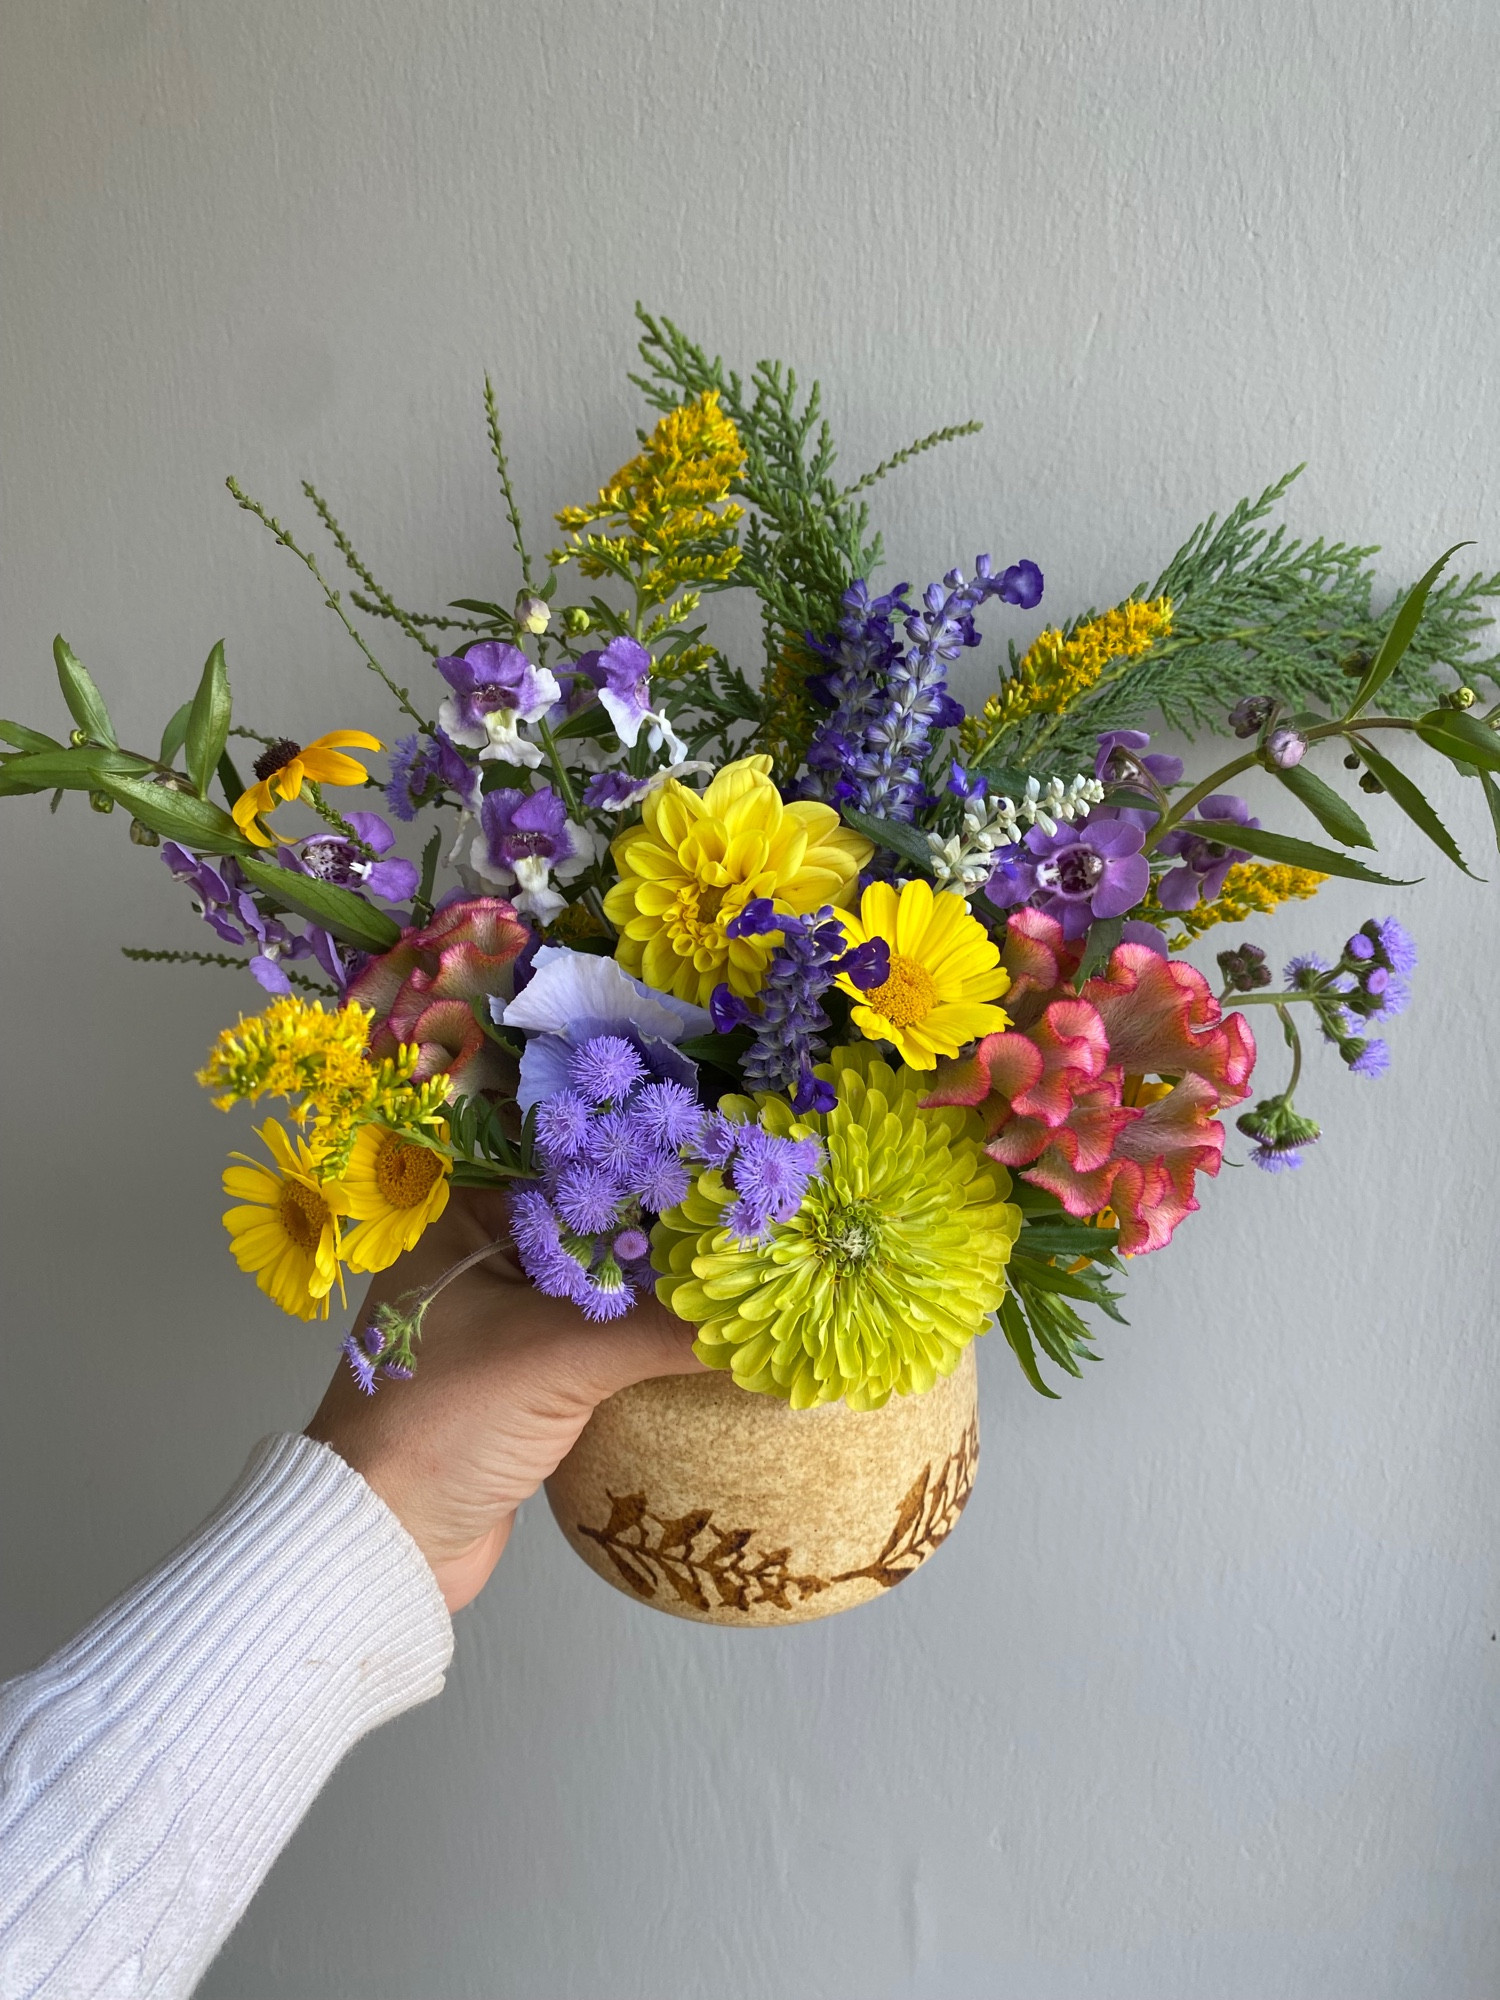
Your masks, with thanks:
[(442, 1688), (432, 1570), (266, 1438), (176, 1554), (0, 1688), (0, 2000), (192, 1992), (344, 1752)]

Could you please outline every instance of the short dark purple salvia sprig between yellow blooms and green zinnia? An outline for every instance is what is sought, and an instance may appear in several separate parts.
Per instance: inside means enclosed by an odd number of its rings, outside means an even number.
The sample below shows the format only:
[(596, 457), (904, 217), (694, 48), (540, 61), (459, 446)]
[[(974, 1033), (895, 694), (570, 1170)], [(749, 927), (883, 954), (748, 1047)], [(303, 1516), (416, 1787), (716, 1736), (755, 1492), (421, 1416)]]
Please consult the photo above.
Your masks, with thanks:
[[(844, 926), (832, 904), (812, 916), (786, 916), (766, 896), (756, 896), (728, 924), (728, 936), (770, 936), (782, 942), (772, 950), (760, 986), (760, 1014), (738, 1000), (728, 986), (716, 986), (710, 1014), (720, 1034), (748, 1026), (754, 1040), (744, 1056), (742, 1072), (752, 1090), (784, 1090), (798, 1112), (830, 1112), (838, 1102), (834, 1086), (814, 1074), (824, 1056), (828, 1016), (822, 996), (840, 972), (868, 990), (890, 978), (890, 946), (870, 938), (850, 950)], [(750, 1232), (758, 1234), (758, 1232)]]

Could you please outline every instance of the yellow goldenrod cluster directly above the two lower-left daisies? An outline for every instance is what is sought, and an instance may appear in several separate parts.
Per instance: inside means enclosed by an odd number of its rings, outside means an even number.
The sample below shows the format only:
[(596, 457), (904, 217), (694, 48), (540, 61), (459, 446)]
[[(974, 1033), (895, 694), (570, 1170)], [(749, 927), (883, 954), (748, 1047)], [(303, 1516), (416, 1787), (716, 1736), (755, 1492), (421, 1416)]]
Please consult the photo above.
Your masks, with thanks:
[(340, 1172), (358, 1126), (374, 1120), (418, 1132), (442, 1116), (446, 1078), (414, 1084), (416, 1048), (402, 1046), (380, 1062), (366, 1056), (372, 1020), (370, 1008), (342, 1006), (328, 1014), (316, 1000), (288, 994), (264, 1014), (224, 1028), (198, 1082), (218, 1092), (214, 1104), (222, 1112), (266, 1096), (296, 1098), (292, 1116), (316, 1126), (320, 1158)]

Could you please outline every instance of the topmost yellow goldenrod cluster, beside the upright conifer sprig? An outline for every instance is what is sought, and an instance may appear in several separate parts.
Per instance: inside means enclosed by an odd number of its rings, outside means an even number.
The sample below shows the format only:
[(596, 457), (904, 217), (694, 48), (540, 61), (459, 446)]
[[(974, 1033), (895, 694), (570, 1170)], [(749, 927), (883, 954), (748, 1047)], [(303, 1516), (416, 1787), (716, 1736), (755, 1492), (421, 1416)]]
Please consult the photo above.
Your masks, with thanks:
[[(728, 498), (744, 464), (740, 434), (718, 390), (668, 410), (646, 448), (620, 466), (592, 506), (566, 506), (568, 544), (584, 576), (630, 576), (642, 604), (664, 604), (684, 584), (722, 584), (740, 560), (734, 528), (744, 508)], [(598, 532), (586, 532), (598, 524)], [(696, 594), (676, 608), (688, 616)]]

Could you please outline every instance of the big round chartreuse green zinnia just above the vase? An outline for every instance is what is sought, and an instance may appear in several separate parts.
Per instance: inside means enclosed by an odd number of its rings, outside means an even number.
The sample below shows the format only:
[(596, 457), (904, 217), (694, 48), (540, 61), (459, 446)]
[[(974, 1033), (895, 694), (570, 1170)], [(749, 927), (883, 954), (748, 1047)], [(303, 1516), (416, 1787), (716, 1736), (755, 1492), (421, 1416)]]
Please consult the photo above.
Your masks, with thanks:
[(832, 1112), (798, 1116), (784, 1098), (724, 1098), (782, 1138), (818, 1138), (824, 1170), (790, 1222), (760, 1240), (726, 1228), (736, 1200), (704, 1168), (656, 1224), (662, 1304), (698, 1326), (694, 1352), (740, 1388), (796, 1410), (878, 1410), (952, 1374), (1006, 1292), (1020, 1210), (986, 1158), (972, 1112), (922, 1110), (926, 1086), (868, 1048), (836, 1048), (818, 1076)]

